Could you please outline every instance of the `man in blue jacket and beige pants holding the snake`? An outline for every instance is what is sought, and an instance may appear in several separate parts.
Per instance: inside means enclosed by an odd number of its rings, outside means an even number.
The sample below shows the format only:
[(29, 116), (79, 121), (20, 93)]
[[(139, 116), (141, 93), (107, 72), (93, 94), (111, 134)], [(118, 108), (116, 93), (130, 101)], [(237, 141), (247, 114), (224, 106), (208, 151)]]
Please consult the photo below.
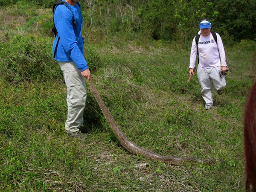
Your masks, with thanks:
[(81, 138), (83, 112), (87, 90), (84, 78), (90, 80), (90, 70), (84, 58), (83, 19), (79, 0), (63, 0), (67, 6), (58, 5), (54, 24), (58, 31), (52, 47), (53, 58), (58, 61), (67, 85), (67, 120), (65, 131)]

